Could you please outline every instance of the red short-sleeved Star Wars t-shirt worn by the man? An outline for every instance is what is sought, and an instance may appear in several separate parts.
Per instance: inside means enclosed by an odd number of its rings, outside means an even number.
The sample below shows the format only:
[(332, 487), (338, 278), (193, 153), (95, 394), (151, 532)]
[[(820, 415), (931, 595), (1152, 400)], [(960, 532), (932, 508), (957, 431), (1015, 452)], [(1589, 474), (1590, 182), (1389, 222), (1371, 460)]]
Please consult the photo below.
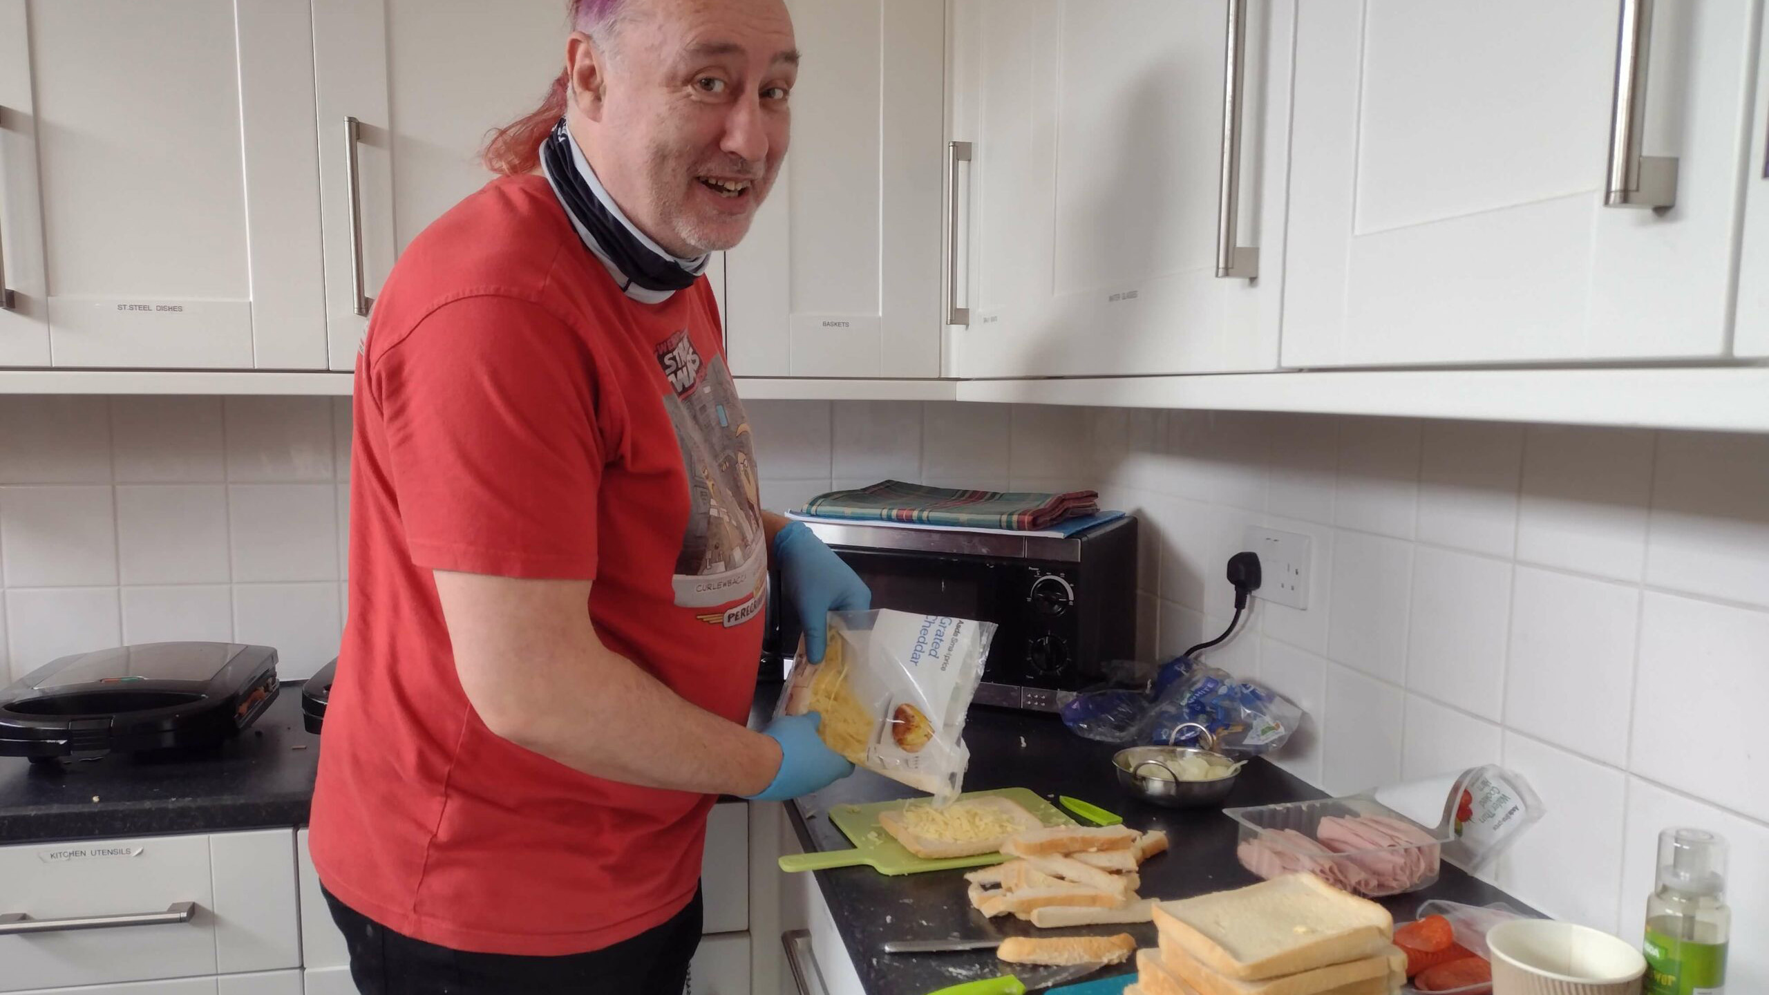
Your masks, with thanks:
[(766, 540), (708, 282), (637, 303), (545, 179), (494, 181), (393, 269), (354, 416), (320, 880), (398, 933), (467, 951), (580, 953), (662, 924), (693, 898), (715, 798), (492, 735), (455, 675), (432, 570), (593, 579), (610, 650), (745, 721)]

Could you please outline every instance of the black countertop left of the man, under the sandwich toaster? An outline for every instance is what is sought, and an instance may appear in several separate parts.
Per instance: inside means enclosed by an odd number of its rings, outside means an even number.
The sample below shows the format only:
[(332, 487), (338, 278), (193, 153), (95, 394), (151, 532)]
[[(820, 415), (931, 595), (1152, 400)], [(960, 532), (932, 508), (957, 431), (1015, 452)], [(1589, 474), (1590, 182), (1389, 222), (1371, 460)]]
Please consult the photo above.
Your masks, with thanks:
[(302, 825), (320, 738), (301, 726), (301, 683), (239, 737), (205, 751), (30, 763), (0, 758), (0, 843)]

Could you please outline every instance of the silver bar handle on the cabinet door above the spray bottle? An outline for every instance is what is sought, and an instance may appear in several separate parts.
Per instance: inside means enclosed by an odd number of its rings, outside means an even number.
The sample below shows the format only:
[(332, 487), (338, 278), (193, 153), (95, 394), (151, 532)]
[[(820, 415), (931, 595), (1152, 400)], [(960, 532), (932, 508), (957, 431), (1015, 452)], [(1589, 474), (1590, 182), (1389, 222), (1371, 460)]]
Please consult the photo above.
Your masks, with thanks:
[(1620, 0), (1615, 32), (1615, 103), (1610, 110), (1610, 168), (1604, 207), (1672, 207), (1677, 204), (1677, 158), (1642, 156), (1647, 117), (1647, 64), (1652, 50), (1652, 0)]

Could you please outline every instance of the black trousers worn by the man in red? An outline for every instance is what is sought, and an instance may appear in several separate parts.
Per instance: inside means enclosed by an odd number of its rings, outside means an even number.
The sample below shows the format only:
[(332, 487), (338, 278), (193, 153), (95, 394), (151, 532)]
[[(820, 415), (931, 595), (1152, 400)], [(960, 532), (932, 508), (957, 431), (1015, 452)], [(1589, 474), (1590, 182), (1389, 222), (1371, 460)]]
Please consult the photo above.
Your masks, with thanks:
[(325, 892), (363, 995), (683, 995), (701, 945), (701, 892), (632, 940), (554, 958), (476, 954), (387, 929)]

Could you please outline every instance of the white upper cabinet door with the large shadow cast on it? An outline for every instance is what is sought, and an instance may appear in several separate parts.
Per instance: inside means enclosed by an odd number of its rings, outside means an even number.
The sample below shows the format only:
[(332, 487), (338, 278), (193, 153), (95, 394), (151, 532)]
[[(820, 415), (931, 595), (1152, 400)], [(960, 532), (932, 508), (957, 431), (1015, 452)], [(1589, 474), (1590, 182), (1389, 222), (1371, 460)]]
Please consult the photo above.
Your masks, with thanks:
[(1277, 365), (1295, 4), (1235, 5), (1240, 276), (1217, 274), (1229, 9), (957, 2), (953, 136), (973, 143), (959, 375)]

